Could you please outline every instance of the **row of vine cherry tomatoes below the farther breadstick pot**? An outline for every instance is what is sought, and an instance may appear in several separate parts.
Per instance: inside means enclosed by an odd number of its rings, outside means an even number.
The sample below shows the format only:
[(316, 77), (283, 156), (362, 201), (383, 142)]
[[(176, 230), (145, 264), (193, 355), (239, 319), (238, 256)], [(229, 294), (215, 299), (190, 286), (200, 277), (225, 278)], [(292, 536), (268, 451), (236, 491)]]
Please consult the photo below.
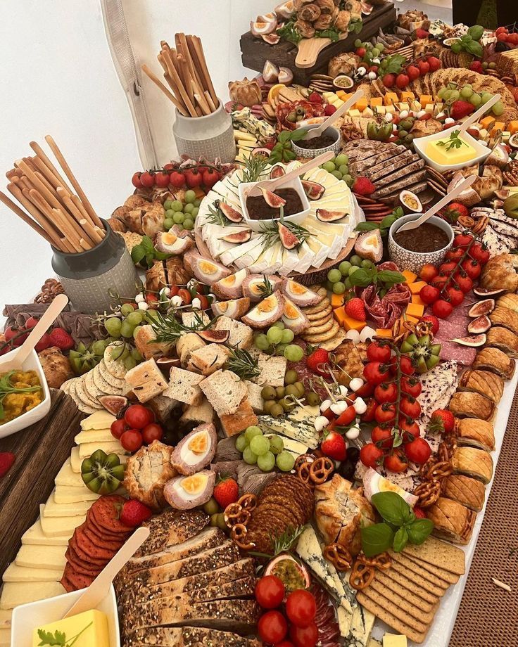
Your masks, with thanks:
[(223, 177), (223, 173), (213, 166), (198, 165), (193, 167), (175, 168), (166, 164), (158, 171), (137, 171), (133, 174), (132, 184), (135, 188), (211, 188)]

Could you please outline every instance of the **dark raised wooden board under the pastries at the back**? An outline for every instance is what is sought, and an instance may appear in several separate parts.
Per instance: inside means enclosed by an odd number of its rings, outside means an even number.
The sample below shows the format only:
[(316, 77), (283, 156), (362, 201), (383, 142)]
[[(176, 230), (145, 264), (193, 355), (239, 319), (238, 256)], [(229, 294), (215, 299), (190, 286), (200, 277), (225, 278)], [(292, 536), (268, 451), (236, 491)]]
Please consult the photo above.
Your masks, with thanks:
[(298, 48), (293, 43), (285, 40), (279, 41), (277, 45), (269, 45), (262, 38), (255, 38), (252, 32), (246, 32), (241, 36), (241, 60), (245, 68), (263, 71), (266, 60), (271, 60), (275, 65), (283, 65), (293, 71), (293, 82), (307, 86), (313, 74), (327, 74), (329, 60), (343, 51), (354, 49), (354, 41), (357, 38), (366, 40), (377, 34), (379, 28), (388, 27), (396, 20), (396, 8), (392, 2), (374, 7), (370, 15), (363, 17), (363, 29), (360, 34), (349, 34), (347, 38), (336, 43), (331, 43), (322, 50), (317, 58), (317, 63), (312, 68), (297, 68), (295, 59)]

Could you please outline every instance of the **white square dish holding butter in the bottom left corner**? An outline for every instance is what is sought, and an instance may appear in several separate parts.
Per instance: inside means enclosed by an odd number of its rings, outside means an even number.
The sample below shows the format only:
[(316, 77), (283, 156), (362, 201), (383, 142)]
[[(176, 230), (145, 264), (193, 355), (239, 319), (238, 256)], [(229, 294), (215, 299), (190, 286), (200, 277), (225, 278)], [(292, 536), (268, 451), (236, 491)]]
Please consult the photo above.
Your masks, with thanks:
[[(11, 626), (11, 645), (13, 647), (30, 647), (34, 629), (49, 624), (49, 622), (61, 620), (84, 590), (72, 591), (72, 593), (65, 593), (48, 600), (39, 600), (15, 607)], [(119, 617), (113, 586), (110, 587), (110, 592), (96, 606), (96, 609), (108, 616), (110, 647), (120, 647)], [(92, 647), (94, 646), (92, 645)]]

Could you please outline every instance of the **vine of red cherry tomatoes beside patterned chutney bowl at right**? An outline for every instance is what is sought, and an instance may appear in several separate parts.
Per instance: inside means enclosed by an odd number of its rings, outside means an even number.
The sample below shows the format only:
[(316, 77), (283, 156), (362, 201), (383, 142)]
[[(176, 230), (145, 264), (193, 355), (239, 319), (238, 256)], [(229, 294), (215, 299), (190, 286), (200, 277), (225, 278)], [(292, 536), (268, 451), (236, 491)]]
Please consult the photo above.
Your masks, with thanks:
[(446, 319), (464, 301), (488, 260), (488, 250), (477, 243), (474, 236), (469, 233), (457, 234), (440, 267), (431, 264), (422, 267), (419, 276), (429, 281), (429, 285), (421, 288), (419, 297), (431, 305), (431, 312), (435, 316)]

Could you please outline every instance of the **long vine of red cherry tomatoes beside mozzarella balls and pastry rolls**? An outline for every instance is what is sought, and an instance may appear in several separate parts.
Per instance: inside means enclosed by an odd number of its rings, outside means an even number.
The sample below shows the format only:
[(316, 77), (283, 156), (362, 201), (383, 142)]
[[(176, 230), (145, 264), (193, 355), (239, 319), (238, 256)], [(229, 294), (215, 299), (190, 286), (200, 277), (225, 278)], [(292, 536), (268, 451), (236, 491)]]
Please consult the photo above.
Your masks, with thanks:
[(390, 342), (378, 341), (367, 347), (367, 359), (363, 376), (373, 389), (373, 397), (367, 403), (362, 421), (375, 426), (372, 442), (360, 450), (360, 460), (372, 468), (383, 464), (392, 472), (403, 472), (409, 461), (426, 463), (431, 449), (419, 437), (419, 425), (415, 422), (421, 414), (417, 397), (422, 385), (413, 377), (412, 361), (398, 352), (392, 354)]

